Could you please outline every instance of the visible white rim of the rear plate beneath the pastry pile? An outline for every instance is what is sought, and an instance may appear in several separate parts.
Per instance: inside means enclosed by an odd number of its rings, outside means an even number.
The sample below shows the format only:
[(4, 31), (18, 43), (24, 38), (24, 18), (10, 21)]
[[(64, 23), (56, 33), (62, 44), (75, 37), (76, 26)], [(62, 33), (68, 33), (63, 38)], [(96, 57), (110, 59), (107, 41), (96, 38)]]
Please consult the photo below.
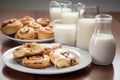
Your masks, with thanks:
[(34, 39), (34, 40), (22, 40), (22, 39), (16, 39), (16, 38), (13, 38), (11, 36), (8, 36), (8, 35), (5, 35), (3, 34), (6, 38), (8, 39), (11, 39), (11, 40), (14, 40), (16, 42), (22, 42), (22, 43), (26, 43), (26, 42), (49, 42), (49, 41), (53, 41), (54, 38), (49, 38), (49, 39), (42, 39), (42, 40), (39, 40), (39, 39)]

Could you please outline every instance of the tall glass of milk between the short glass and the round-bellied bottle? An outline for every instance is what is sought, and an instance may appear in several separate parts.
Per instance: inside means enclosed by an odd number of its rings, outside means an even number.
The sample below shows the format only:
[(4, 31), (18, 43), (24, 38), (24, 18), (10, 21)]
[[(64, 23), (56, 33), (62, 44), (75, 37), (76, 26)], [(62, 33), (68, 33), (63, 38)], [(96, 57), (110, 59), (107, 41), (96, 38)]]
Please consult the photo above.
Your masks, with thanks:
[(95, 29), (95, 16), (98, 11), (99, 8), (95, 5), (86, 5), (79, 8), (76, 47), (89, 50), (89, 40)]

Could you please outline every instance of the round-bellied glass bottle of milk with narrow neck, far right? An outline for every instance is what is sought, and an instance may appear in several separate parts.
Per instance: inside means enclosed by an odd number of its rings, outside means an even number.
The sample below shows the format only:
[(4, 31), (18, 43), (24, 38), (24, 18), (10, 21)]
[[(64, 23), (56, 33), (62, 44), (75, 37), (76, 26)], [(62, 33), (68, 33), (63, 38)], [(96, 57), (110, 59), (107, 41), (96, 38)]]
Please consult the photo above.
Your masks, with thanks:
[(93, 63), (98, 65), (111, 64), (116, 50), (115, 40), (111, 31), (112, 16), (100, 14), (95, 17), (96, 29), (90, 40), (89, 54)]

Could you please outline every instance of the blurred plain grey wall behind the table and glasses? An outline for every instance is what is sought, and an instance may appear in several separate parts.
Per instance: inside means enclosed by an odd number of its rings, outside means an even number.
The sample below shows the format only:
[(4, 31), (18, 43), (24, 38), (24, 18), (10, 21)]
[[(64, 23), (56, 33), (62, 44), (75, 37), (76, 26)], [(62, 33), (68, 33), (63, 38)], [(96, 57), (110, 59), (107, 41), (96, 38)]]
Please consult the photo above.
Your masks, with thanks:
[[(51, 0), (0, 0), (0, 9), (45, 10), (49, 9)], [(100, 11), (119, 12), (120, 0), (71, 0), (100, 7)]]

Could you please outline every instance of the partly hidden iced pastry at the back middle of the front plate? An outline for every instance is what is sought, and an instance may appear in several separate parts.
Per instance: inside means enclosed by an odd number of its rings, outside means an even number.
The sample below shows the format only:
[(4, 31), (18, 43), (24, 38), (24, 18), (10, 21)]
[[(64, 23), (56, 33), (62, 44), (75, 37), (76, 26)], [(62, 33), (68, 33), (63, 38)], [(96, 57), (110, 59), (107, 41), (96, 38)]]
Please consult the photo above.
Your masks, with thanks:
[(62, 48), (60, 43), (51, 43), (51, 44), (43, 44), (44, 51), (43, 53), (49, 55), (52, 50)]

